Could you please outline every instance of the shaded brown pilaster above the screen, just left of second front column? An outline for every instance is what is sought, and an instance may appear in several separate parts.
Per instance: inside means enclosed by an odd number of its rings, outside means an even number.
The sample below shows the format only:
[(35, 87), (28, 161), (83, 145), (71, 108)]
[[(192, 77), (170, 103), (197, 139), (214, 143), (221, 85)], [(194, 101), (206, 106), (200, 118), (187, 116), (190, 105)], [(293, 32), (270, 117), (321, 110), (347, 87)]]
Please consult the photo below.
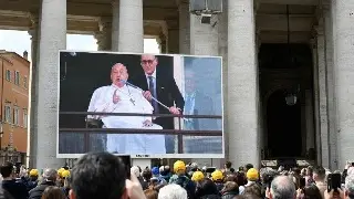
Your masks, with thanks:
[(95, 33), (98, 51), (112, 50), (112, 19), (101, 18), (98, 21), (100, 32)]

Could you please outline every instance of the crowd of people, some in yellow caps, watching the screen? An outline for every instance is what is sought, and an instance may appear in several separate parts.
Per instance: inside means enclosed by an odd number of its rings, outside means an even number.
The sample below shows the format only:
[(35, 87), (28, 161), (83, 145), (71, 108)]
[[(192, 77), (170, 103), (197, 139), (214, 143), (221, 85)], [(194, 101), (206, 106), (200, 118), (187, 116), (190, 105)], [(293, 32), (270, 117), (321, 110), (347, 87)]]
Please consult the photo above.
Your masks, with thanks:
[[(341, 176), (337, 187), (332, 176)], [(128, 168), (110, 153), (90, 153), (73, 168), (1, 166), (0, 199), (353, 199), (354, 167), (333, 174), (321, 166), (233, 169), (176, 161), (173, 167)], [(333, 177), (334, 178), (334, 177)]]

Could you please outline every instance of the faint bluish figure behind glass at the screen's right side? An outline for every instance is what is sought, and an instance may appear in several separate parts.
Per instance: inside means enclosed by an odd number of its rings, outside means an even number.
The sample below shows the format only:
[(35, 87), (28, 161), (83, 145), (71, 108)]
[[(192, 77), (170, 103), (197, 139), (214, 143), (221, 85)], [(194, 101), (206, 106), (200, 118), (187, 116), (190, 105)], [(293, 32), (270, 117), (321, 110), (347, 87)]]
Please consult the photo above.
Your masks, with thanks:
[[(185, 70), (185, 115), (216, 115), (212, 100), (197, 88), (195, 73), (191, 69)], [(218, 130), (217, 119), (187, 118), (184, 129), (189, 130)], [(187, 154), (221, 154), (221, 137), (187, 137), (185, 138), (185, 153)]]

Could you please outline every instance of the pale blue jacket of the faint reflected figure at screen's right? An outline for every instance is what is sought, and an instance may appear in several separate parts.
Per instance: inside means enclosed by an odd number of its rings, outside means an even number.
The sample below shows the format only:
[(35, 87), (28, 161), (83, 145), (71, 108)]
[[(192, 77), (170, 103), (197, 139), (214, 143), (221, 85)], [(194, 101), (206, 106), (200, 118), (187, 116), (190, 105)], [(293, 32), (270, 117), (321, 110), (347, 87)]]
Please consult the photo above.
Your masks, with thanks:
[[(196, 92), (192, 115), (216, 115), (212, 100), (200, 92)], [(196, 130), (217, 130), (218, 128), (217, 119), (194, 118), (192, 121)]]

